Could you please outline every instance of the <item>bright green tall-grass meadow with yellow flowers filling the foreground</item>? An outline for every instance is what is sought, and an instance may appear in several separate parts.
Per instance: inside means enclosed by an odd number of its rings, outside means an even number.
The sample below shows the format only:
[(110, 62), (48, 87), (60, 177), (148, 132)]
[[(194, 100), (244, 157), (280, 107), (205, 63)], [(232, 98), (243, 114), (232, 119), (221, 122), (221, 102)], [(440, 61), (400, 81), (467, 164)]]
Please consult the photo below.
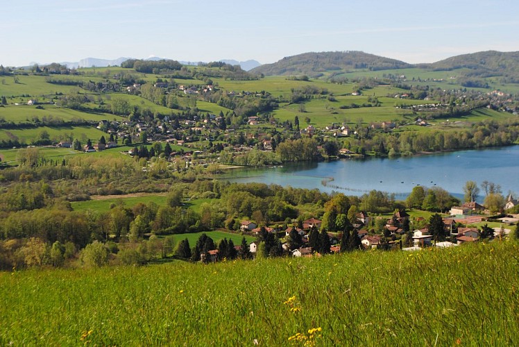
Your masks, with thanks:
[(0, 274), (0, 344), (519, 344), (519, 245)]

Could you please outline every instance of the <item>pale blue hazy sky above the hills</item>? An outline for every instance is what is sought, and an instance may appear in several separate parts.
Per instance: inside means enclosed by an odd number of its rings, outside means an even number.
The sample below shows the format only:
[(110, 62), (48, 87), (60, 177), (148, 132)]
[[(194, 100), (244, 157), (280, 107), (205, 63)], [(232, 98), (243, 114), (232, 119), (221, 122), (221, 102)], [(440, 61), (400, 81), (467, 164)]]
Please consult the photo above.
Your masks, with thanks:
[(17, 0), (1, 13), (3, 66), (150, 56), (266, 64), (310, 51), (418, 63), (519, 51), (516, 0)]

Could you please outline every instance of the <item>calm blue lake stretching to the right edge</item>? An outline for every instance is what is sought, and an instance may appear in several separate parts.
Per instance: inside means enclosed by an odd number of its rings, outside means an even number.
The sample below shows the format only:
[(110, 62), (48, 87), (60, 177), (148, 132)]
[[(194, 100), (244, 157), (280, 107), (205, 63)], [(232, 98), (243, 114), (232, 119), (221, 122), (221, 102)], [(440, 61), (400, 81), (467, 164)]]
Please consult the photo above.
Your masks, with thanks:
[(298, 162), (275, 168), (236, 169), (222, 177), (230, 182), (274, 183), (346, 195), (377, 189), (394, 193), (396, 198), (407, 197), (416, 185), (436, 185), (462, 198), (466, 181), (473, 180), (479, 186), (488, 180), (501, 185), (507, 195), (509, 190), (519, 192), (519, 145), (410, 158)]

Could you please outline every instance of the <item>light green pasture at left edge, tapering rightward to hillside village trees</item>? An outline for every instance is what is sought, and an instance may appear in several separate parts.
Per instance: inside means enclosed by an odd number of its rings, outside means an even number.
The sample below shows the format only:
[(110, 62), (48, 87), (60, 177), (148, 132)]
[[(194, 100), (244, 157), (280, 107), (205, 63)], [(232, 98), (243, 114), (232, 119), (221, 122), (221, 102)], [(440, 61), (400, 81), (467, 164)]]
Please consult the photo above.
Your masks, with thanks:
[(0, 118), (5, 121), (21, 123), (33, 121), (35, 117), (42, 121), (44, 117), (47, 119), (62, 119), (63, 121), (71, 121), (73, 119), (85, 119), (92, 121), (101, 121), (103, 119), (121, 119), (119, 116), (111, 115), (103, 112), (81, 112), (72, 110), (71, 108), (60, 108), (57, 105), (40, 105), (43, 109), (36, 108), (33, 105), (7, 105), (0, 108)]

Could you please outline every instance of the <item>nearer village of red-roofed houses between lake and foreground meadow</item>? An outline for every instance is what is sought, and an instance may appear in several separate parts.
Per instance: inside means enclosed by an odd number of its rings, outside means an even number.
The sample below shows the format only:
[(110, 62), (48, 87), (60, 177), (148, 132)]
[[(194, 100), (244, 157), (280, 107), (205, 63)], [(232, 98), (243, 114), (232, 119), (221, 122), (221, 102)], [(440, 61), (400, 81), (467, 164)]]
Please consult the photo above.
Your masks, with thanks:
[[(509, 196), (505, 208), (511, 209), (519, 205), (519, 201)], [(484, 214), (487, 212), (487, 215)], [(315, 218), (300, 221), (293, 226), (287, 228), (277, 228), (269, 226), (259, 227), (254, 221), (243, 220), (239, 226), (239, 230), (243, 235), (251, 235), (259, 237), (264, 233), (274, 234), (282, 241), (281, 246), (284, 255), (291, 257), (314, 257), (324, 254), (341, 253), (341, 246), (346, 245), (342, 242), (343, 237), (355, 237), (357, 240), (348, 240), (349, 244), (357, 245), (359, 250), (401, 250), (401, 251), (420, 251), (428, 247), (449, 248), (454, 246), (461, 246), (467, 243), (474, 242), (491, 242), (494, 239), (503, 240), (508, 237), (513, 228), (513, 224), (519, 222), (519, 214), (509, 214), (504, 217), (499, 217), (495, 221), (501, 223), (501, 227), (489, 228), (486, 224), (480, 228), (475, 226), (468, 226), (473, 223), (480, 223), (488, 219), (488, 211), (485, 211), (484, 206), (479, 203), (470, 202), (463, 203), (461, 206), (454, 206), (451, 208), (450, 217), (439, 217), (435, 214), (429, 221), (425, 221), (423, 217), (418, 217), (411, 221), (411, 216), (405, 210), (395, 211), (391, 219), (385, 219), (384, 231), (382, 234), (377, 234), (368, 231), (369, 226), (373, 225), (373, 218), (369, 217), (366, 212), (359, 212), (356, 214), (356, 223), (350, 226), (352, 232), (349, 230), (344, 232), (326, 232), (322, 229), (323, 221)], [(434, 218), (438, 217), (438, 219)], [(420, 226), (420, 228), (411, 228), (411, 223)], [(439, 226), (432, 224), (439, 223)], [(510, 225), (512, 225), (510, 227)], [(507, 226), (507, 228), (505, 228)], [(436, 230), (433, 230), (436, 228)], [(439, 228), (439, 229), (438, 229)], [(321, 246), (313, 246), (311, 242), (311, 233), (321, 230), (321, 235), (327, 235), (329, 248), (323, 251)], [(300, 237), (300, 242), (294, 242), (294, 234)], [(346, 235), (346, 236), (345, 236)], [(248, 244), (248, 252), (253, 257), (257, 255), (259, 244), (262, 241), (254, 241)], [(297, 247), (296, 247), (297, 245)], [(244, 245), (235, 246), (236, 254), (243, 251), (241, 247)], [(352, 251), (352, 248), (349, 249)], [(207, 251), (207, 255), (201, 254), (202, 262), (216, 262), (222, 259), (219, 255), (219, 249), (212, 249)], [(205, 257), (209, 257), (207, 260)]]

